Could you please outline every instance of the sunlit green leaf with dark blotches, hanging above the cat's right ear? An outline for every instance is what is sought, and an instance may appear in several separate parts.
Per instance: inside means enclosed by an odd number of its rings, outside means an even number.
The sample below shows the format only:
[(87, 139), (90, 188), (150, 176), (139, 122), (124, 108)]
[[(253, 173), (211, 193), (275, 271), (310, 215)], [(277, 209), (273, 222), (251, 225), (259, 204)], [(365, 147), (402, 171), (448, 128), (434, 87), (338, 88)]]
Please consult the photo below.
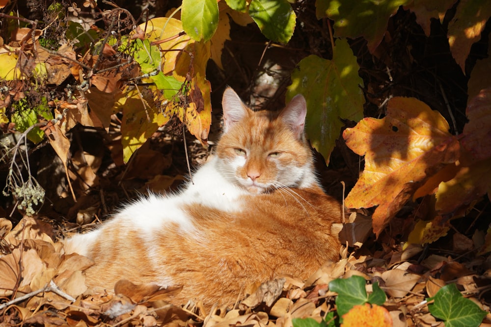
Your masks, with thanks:
[(297, 16), (286, 0), (252, 0), (249, 15), (268, 39), (286, 44), (292, 38)]

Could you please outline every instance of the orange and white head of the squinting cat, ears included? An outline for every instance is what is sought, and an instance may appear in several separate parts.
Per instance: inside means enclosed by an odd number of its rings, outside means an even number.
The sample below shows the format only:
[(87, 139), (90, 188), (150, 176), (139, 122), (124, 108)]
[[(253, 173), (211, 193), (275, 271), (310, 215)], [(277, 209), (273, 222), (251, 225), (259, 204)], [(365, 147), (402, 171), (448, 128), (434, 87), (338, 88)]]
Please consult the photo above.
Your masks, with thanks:
[(220, 170), (250, 193), (315, 182), (303, 127), (305, 99), (295, 96), (281, 111), (253, 111), (231, 88), (223, 93), (223, 134), (216, 154)]

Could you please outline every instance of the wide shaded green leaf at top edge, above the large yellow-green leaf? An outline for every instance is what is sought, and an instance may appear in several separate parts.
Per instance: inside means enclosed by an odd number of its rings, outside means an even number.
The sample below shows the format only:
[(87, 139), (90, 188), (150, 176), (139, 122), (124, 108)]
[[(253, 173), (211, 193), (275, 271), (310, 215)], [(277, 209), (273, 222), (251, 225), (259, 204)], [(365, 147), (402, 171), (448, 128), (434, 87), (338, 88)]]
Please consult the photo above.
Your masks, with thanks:
[(371, 53), (377, 48), (387, 29), (387, 21), (401, 5), (411, 0), (317, 0), (318, 18), (334, 21), (334, 37), (356, 38), (368, 41)]

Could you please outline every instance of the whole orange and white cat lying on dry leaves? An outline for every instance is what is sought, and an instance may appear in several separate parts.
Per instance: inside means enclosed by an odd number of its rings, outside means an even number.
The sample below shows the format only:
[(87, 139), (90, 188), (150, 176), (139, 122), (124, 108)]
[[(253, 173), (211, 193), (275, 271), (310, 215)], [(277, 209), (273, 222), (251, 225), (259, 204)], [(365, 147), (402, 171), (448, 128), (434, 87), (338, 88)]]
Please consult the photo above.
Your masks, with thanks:
[(95, 264), (86, 284), (112, 290), (119, 279), (183, 285), (171, 300), (233, 304), (253, 282), (307, 278), (338, 260), (331, 234), (341, 206), (316, 179), (304, 138), (306, 104), (252, 111), (228, 88), (215, 155), (177, 194), (126, 205), (100, 228), (66, 240)]

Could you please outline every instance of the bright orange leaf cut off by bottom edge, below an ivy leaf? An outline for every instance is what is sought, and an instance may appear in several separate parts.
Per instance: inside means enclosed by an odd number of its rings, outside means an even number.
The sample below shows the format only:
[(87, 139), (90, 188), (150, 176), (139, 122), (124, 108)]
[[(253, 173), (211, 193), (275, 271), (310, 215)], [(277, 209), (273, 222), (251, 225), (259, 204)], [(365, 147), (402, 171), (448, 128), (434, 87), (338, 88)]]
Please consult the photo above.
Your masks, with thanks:
[(341, 327), (391, 327), (392, 318), (383, 306), (365, 303), (355, 305), (343, 315)]

